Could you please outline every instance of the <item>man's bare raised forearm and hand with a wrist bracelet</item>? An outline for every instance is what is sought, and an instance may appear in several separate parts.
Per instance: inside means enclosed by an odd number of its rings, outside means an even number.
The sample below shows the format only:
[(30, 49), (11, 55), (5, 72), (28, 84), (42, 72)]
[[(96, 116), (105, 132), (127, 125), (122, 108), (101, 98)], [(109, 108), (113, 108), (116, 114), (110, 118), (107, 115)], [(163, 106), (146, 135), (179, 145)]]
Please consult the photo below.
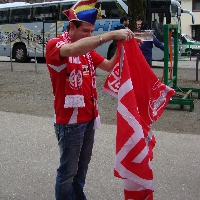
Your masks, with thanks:
[(134, 33), (130, 29), (121, 29), (116, 31), (110, 31), (101, 34), (100, 36), (97, 35), (82, 38), (74, 43), (63, 45), (60, 48), (60, 56), (68, 57), (83, 55), (97, 48), (101, 45), (101, 43), (104, 44), (110, 40), (121, 40), (125, 42), (131, 40), (133, 37)]

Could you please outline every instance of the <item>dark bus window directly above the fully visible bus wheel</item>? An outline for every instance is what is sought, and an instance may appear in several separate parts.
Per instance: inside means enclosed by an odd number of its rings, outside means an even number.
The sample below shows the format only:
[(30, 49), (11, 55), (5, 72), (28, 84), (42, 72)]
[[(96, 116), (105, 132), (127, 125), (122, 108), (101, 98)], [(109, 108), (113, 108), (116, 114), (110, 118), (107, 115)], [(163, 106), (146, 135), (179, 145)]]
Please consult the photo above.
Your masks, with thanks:
[(30, 21), (30, 8), (23, 9), (11, 9), (10, 10), (10, 22), (29, 22)]

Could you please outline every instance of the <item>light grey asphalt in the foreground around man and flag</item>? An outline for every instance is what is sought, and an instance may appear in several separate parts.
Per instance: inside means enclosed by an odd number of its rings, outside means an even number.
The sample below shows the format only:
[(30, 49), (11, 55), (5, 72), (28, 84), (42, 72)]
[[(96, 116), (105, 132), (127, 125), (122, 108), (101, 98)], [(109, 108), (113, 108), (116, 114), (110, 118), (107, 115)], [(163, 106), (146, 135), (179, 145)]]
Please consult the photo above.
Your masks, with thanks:
[[(0, 199), (53, 200), (59, 151), (53, 118), (0, 112)], [(123, 200), (113, 176), (116, 126), (96, 132), (85, 193), (88, 200)], [(155, 200), (200, 199), (200, 135), (155, 132)]]

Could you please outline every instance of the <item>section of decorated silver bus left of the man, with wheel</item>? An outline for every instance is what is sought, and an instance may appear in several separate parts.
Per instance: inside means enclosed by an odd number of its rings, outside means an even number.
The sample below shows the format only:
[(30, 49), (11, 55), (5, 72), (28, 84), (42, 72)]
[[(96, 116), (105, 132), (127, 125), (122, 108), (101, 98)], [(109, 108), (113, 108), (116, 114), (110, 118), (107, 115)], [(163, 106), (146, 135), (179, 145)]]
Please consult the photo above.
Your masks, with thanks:
[(36, 56), (43, 61), (46, 42), (62, 34), (67, 20), (62, 10), (71, 8), (75, 2), (1, 4), (0, 56), (12, 56), (17, 62), (28, 62)]

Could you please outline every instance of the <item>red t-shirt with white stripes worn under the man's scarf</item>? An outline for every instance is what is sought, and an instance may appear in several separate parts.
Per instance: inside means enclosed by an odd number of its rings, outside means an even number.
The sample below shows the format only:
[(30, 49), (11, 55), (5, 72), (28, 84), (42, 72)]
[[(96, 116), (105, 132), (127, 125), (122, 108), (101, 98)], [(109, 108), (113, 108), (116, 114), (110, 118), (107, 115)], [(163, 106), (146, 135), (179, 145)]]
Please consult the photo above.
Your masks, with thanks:
[[(51, 39), (46, 46), (46, 63), (49, 69), (50, 78), (54, 94), (54, 110), (55, 123), (57, 124), (74, 124), (90, 121), (94, 118), (92, 94), (92, 81), (88, 69), (88, 62), (85, 56), (80, 56), (83, 71), (83, 96), (85, 107), (80, 108), (64, 108), (65, 104), (65, 83), (68, 62), (68, 57), (60, 57), (60, 47), (64, 45), (63, 37)], [(94, 50), (90, 52), (93, 66), (96, 67), (104, 60), (102, 56)]]

